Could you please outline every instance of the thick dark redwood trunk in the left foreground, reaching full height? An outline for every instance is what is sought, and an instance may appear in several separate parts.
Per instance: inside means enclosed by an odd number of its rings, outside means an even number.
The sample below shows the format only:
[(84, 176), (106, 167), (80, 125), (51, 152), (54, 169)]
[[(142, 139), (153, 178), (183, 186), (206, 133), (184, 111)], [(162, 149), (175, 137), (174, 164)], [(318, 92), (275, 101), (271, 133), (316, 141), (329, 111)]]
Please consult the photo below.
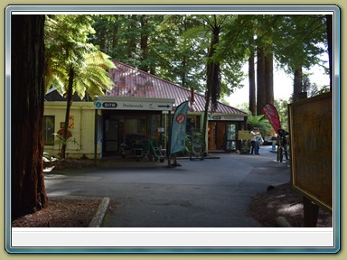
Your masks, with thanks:
[(12, 15), (11, 218), (48, 205), (42, 165), (44, 15)]

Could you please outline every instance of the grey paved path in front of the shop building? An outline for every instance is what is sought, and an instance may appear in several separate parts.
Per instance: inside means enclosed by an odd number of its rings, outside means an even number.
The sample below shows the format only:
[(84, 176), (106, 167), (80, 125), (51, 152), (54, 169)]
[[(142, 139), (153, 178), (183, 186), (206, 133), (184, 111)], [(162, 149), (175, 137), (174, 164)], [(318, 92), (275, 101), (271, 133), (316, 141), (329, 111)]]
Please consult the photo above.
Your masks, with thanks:
[(288, 162), (277, 163), (270, 149), (181, 160), (176, 168), (163, 163), (47, 174), (46, 190), (49, 197), (110, 198), (117, 204), (108, 218), (112, 228), (258, 228), (247, 212), (252, 196), (290, 180)]

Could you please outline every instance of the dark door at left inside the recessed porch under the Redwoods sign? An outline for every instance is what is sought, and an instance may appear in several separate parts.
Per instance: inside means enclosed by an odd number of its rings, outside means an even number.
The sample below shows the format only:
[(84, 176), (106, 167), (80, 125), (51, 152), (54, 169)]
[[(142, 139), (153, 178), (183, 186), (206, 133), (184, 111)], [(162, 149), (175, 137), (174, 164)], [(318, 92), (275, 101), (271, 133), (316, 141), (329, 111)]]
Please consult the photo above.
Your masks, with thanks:
[(114, 119), (105, 119), (104, 121), (104, 144), (103, 152), (106, 155), (118, 152), (118, 131), (119, 121)]

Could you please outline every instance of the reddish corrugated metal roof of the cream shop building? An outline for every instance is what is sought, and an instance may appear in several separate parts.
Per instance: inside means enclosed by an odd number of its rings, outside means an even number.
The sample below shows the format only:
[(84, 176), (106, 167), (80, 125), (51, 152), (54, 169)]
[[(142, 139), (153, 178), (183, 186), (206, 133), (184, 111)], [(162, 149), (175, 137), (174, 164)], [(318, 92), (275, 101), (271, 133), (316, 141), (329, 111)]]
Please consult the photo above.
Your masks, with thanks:
[[(107, 93), (114, 97), (135, 98), (174, 98), (174, 107), (189, 100), (191, 90), (182, 88), (167, 80), (159, 79), (143, 70), (138, 70), (117, 60), (113, 60), (116, 69), (109, 71), (110, 78), (115, 83), (114, 88)], [(191, 112), (203, 112), (205, 110), (205, 98), (194, 93), (194, 102), (190, 106)], [(247, 113), (235, 107), (218, 103), (214, 113), (246, 116)]]

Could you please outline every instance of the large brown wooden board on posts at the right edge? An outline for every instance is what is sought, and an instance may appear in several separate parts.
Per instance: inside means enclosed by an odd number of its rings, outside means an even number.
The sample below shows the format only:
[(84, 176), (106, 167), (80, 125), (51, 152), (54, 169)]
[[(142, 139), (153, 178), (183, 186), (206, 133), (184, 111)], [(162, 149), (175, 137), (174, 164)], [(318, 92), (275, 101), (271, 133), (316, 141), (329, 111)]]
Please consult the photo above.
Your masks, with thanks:
[(333, 95), (307, 98), (288, 110), (292, 185), (333, 210)]

